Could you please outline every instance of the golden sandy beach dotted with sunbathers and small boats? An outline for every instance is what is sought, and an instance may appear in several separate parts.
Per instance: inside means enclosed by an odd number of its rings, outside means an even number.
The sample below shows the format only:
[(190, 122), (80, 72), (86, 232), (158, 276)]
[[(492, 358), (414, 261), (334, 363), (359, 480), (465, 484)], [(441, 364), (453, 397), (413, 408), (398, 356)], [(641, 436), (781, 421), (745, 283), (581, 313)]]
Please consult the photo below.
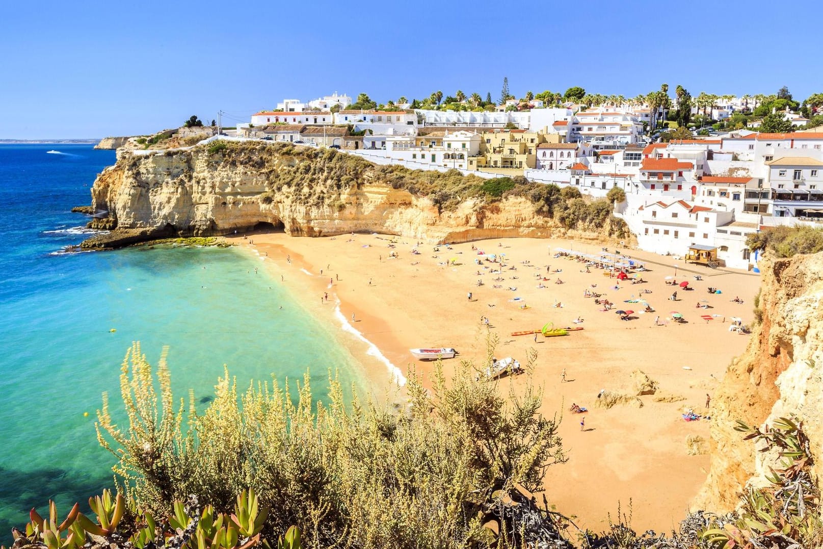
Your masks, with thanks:
[[(585, 272), (585, 264), (574, 259), (555, 258), (557, 249), (602, 253), (597, 244), (570, 240), (482, 240), (436, 251), (431, 244), (416, 246), (412, 239), (388, 235), (312, 239), (272, 233), (230, 241), (256, 251), (273, 281), (291, 286), (309, 311), (336, 328), (354, 356), (363, 357), (378, 396), (393, 377), (387, 362), (403, 372), (412, 362), (418, 371), (430, 371), (430, 363), (413, 359), (412, 347), (454, 347), (459, 356), (453, 361), (479, 365), (488, 331), (500, 338), (498, 358), (525, 362), (527, 350), (537, 350), (534, 380), (545, 390), (544, 413), (562, 414), (560, 435), (570, 458), (548, 472), (546, 496), (556, 509), (576, 515), (581, 528), (597, 531), (608, 527), (607, 514), (616, 517), (618, 500), (623, 512), (632, 501), (637, 531), (677, 528), (709, 466), (707, 455), (688, 454), (686, 438), (708, 440), (711, 421), (684, 421), (681, 414), (705, 414), (707, 394), (748, 341), (729, 332), (729, 318), (751, 322), (751, 301), (760, 286), (760, 277), (751, 273), (686, 265), (634, 249), (621, 251), (645, 264), (647, 271), (637, 274), (646, 282), (619, 282), (597, 268)], [(415, 248), (419, 254), (412, 253)], [(491, 254), (505, 254), (502, 272), (500, 263), (485, 260)], [(688, 281), (694, 289), (667, 281)], [(709, 294), (709, 286), (723, 293)], [(587, 290), (614, 306), (604, 310), (584, 295)], [(673, 291), (677, 300), (670, 299)], [(731, 302), (736, 295), (742, 305)], [(640, 298), (654, 312), (626, 302)], [(618, 309), (635, 313), (623, 320)], [(673, 313), (685, 322), (675, 322)], [(550, 322), (584, 330), (539, 335), (537, 342), (510, 335)], [(376, 348), (343, 330), (346, 324)], [(638, 369), (659, 383), (657, 393), (639, 397), (643, 407), (595, 407), (602, 389), (631, 393), (631, 373)], [(503, 383), (524, 383), (523, 376), (509, 379)], [(588, 412), (569, 412), (573, 402)]]

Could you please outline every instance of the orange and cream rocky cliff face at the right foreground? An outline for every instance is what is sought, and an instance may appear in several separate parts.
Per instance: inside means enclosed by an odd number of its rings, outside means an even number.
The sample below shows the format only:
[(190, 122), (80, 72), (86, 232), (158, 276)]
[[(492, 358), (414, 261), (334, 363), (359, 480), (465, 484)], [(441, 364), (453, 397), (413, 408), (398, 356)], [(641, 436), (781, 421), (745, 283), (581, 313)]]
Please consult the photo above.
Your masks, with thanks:
[(695, 506), (730, 510), (746, 482), (765, 484), (774, 456), (733, 430), (796, 415), (823, 472), (823, 253), (760, 261), (762, 323), (714, 394), (711, 469)]

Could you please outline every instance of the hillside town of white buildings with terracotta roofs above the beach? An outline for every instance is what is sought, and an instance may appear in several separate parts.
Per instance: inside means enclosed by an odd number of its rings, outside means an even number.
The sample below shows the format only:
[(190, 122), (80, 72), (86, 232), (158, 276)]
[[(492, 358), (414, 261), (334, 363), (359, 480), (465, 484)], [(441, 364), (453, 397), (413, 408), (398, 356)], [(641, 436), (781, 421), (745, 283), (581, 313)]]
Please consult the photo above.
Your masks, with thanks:
[[(239, 123), (237, 137), (333, 147), (381, 165), (523, 176), (594, 198), (620, 188), (614, 214), (639, 249), (757, 269), (752, 232), (823, 222), (823, 96), (691, 98), (677, 86), (626, 99), (528, 92), (376, 105), (368, 95), (286, 99)], [(613, 195), (611, 195), (613, 196)], [(621, 196), (622, 198), (622, 196)]]

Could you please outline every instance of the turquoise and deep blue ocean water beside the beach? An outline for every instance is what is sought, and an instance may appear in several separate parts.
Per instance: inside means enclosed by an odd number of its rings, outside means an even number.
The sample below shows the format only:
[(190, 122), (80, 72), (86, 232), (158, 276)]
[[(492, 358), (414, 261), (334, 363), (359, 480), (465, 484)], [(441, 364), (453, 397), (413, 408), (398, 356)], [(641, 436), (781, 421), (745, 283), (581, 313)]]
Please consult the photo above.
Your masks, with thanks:
[[(59, 154), (49, 153), (56, 150)], [(156, 365), (163, 346), (175, 395), (213, 394), (223, 365), (250, 380), (300, 379), (323, 398), (328, 368), (361, 382), (355, 357), (238, 249), (66, 253), (78, 244), (95, 174), (114, 151), (0, 145), (0, 542), (28, 510), (58, 510), (111, 484), (114, 457), (95, 437), (101, 393), (119, 406), (133, 341)], [(255, 268), (259, 268), (255, 273)], [(114, 331), (113, 331), (114, 330)], [(187, 400), (188, 402), (188, 400)], [(202, 406), (205, 406), (203, 404)], [(88, 412), (88, 416), (84, 413)]]

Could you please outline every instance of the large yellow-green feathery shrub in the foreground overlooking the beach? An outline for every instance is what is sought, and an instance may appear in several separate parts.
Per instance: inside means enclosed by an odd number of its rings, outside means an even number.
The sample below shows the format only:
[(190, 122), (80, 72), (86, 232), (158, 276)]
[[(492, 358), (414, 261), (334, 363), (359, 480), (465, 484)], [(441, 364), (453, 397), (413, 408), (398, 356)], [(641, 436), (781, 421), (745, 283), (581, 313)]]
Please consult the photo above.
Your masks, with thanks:
[(189, 394), (187, 416), (165, 356), (152, 371), (135, 344), (121, 369), (127, 419), (115, 425), (104, 395), (97, 424), (128, 495), (154, 516), (189, 494), (226, 513), (253, 488), (274, 509), (264, 533), (296, 524), (306, 547), (478, 547), (494, 539), (483, 517), (495, 505), (537, 490), (565, 461), (557, 421), (540, 413), (528, 378), (504, 393), (468, 363), (452, 379), (435, 363), (430, 390), (409, 372), (404, 409), (346, 403), (331, 375), (325, 405), (308, 374), (295, 392), (275, 382), (239, 395), (226, 371), (205, 411)]

